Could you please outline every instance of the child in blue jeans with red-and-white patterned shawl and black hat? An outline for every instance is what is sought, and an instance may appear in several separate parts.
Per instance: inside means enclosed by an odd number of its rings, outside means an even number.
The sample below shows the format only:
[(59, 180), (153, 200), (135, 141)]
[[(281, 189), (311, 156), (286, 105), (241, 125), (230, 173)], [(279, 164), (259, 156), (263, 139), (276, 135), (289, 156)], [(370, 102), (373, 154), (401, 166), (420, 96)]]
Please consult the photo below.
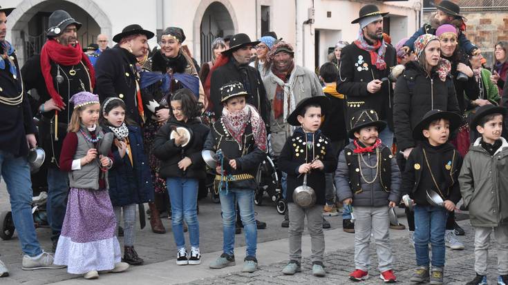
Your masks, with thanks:
[(224, 244), (223, 254), (209, 267), (235, 265), (235, 204), (238, 202), (247, 246), (242, 271), (252, 273), (258, 267), (254, 190), (258, 166), (266, 157), (265, 123), (256, 108), (245, 103), (247, 92), (242, 83), (231, 81), (219, 89), (224, 107), (220, 118), (211, 125), (204, 149), (214, 150), (218, 157), (214, 188), (220, 197)]

